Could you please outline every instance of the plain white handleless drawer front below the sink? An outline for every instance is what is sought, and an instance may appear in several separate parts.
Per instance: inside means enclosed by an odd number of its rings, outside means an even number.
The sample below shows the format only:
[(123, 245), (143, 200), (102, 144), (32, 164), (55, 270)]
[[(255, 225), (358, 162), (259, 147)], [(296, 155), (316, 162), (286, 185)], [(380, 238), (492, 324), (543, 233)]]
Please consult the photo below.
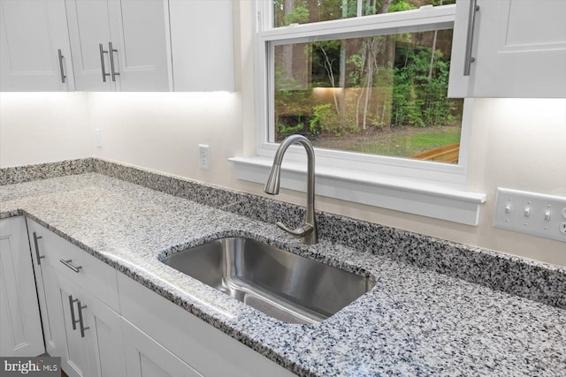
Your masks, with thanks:
[(118, 282), (123, 317), (204, 376), (294, 375), (126, 275)]

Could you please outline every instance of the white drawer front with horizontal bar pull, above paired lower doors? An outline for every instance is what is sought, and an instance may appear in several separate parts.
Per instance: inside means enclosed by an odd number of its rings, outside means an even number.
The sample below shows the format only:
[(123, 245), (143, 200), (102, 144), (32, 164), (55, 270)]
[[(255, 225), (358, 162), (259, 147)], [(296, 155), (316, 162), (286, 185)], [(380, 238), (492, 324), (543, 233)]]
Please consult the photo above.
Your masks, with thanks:
[(31, 225), (32, 251), (38, 255), (40, 263), (49, 263), (57, 274), (88, 290), (119, 313), (118, 282), (114, 268), (41, 225), (28, 223)]

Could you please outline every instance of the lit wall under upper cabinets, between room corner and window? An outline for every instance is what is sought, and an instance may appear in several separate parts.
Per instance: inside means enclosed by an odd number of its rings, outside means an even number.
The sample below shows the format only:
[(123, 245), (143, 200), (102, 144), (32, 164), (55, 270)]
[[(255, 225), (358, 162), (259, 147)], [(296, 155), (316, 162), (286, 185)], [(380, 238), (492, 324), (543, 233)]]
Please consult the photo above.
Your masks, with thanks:
[[(90, 122), (102, 134), (94, 155), (217, 185), (233, 186), (227, 159), (241, 155), (241, 94), (91, 93)], [(199, 169), (198, 145), (211, 170)]]

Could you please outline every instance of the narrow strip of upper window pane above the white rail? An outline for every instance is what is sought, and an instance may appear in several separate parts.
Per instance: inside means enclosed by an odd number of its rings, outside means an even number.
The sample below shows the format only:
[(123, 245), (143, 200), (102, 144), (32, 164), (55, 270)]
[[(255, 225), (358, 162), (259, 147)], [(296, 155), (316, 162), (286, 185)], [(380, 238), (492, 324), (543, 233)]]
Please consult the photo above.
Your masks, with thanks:
[(447, 4), (455, 0), (273, 0), (273, 20), (279, 27)]

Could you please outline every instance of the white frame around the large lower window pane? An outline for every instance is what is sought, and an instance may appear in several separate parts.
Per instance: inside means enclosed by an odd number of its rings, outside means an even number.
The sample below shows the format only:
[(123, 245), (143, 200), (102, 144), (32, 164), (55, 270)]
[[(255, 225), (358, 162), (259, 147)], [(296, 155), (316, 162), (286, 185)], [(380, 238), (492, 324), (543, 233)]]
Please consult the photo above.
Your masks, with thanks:
[[(273, 61), (273, 46), (294, 42), (453, 28), (455, 20), (455, 4), (450, 4), (305, 25), (272, 27), (272, 2), (258, 1), (256, 6), (258, 17), (256, 29), (256, 154), (265, 157), (273, 157), (279, 147), (279, 143), (272, 141), (273, 135), (271, 134), (274, 114), (274, 93), (272, 91), (274, 77), (269, 64)], [(461, 147), (457, 164), (315, 148), (317, 161), (320, 164), (333, 164), (333, 166), (343, 168), (348, 168), (348, 165), (351, 166), (351, 163), (355, 162), (359, 169), (368, 172), (430, 179), (463, 188), (467, 172), (470, 112), (470, 103), (464, 104)], [(300, 147), (291, 147), (286, 158), (292, 161), (302, 161), (302, 154)]]

